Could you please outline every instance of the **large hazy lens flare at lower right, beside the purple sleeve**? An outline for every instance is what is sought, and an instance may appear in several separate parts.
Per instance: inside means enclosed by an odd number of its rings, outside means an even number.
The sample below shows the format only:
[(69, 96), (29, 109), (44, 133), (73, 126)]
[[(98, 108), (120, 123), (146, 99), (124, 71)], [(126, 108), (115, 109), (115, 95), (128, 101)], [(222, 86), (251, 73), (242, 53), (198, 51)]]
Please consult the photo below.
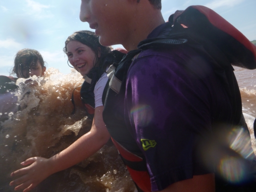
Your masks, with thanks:
[(251, 163), (254, 158), (250, 134), (242, 127), (229, 129), (225, 125), (201, 143), (201, 157), (205, 166), (223, 180), (232, 184), (249, 182), (252, 179)]

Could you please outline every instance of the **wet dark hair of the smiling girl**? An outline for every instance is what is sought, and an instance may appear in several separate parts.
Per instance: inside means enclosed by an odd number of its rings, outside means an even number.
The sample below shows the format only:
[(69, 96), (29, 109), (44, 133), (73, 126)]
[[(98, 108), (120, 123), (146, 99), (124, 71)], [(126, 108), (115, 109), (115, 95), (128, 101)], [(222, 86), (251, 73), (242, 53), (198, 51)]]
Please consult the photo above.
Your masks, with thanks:
[[(67, 53), (66, 45), (71, 40), (77, 40), (80, 43), (90, 47), (91, 50), (95, 53), (95, 66), (100, 68), (100, 72), (106, 69), (108, 63), (104, 62), (104, 60), (108, 53), (111, 51), (111, 47), (101, 45), (98, 41), (98, 36), (94, 32), (89, 30), (79, 30), (68, 36), (63, 48), (64, 53)], [(99, 53), (100, 57), (98, 57)]]

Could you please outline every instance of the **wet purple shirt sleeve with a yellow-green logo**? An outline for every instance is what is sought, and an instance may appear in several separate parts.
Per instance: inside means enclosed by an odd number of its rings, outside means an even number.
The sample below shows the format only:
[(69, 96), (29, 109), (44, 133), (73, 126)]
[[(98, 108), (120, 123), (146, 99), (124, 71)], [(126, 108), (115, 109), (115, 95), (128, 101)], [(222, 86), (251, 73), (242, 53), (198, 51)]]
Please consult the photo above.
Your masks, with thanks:
[(142, 52), (127, 74), (126, 124), (145, 155), (152, 191), (212, 172), (203, 168), (197, 145), (211, 131), (215, 103), (208, 86), (215, 77), (209, 68), (198, 68), (198, 74), (207, 71), (209, 82), (203, 81), (183, 66), (200, 60), (175, 57)]

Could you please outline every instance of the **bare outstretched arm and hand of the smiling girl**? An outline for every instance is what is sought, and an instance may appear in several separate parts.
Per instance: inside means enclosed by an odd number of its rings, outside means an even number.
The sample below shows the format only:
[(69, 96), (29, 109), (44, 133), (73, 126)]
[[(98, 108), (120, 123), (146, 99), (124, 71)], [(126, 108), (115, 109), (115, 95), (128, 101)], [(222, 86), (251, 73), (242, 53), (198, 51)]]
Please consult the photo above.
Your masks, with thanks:
[(95, 108), (92, 126), (89, 132), (78, 138), (69, 147), (50, 158), (32, 157), (21, 162), (28, 165), (11, 173), (11, 176), (20, 176), (10, 182), (17, 185), (15, 190), (29, 191), (49, 175), (66, 169), (94, 154), (110, 138), (102, 119), (103, 106)]

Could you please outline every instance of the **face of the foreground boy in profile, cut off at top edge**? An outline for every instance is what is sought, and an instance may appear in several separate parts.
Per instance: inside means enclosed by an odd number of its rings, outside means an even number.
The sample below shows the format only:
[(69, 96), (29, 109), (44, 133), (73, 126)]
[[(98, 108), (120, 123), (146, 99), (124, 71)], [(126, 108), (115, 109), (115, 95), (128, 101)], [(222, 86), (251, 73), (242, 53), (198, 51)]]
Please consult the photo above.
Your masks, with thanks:
[(90, 28), (95, 29), (102, 45), (122, 44), (128, 34), (126, 2), (127, 0), (81, 0), (80, 20), (88, 22)]

